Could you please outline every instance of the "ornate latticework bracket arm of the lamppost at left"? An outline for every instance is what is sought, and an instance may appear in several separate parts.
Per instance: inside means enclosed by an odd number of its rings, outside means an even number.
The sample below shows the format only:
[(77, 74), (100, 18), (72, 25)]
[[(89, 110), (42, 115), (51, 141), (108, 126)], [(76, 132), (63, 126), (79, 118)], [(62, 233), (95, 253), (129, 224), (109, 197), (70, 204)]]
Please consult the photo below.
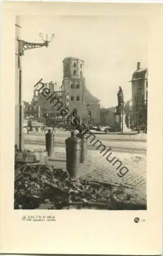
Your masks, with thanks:
[(30, 50), (30, 49), (35, 49), (35, 48), (40, 48), (43, 46), (48, 47), (49, 41), (44, 41), (41, 43), (37, 42), (26, 42), (24, 40), (18, 39), (19, 42), (19, 56), (24, 55), (25, 50)]

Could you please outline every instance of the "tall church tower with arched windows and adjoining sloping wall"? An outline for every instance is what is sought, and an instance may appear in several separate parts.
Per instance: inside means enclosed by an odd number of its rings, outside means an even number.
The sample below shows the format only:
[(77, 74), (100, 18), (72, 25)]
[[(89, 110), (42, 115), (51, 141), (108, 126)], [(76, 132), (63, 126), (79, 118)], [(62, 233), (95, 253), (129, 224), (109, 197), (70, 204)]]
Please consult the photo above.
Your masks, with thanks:
[[(100, 120), (100, 100), (94, 97), (86, 87), (84, 61), (75, 57), (63, 60), (62, 91), (69, 92), (69, 112), (76, 112), (81, 122), (98, 123)], [(89, 104), (89, 117), (88, 108)]]

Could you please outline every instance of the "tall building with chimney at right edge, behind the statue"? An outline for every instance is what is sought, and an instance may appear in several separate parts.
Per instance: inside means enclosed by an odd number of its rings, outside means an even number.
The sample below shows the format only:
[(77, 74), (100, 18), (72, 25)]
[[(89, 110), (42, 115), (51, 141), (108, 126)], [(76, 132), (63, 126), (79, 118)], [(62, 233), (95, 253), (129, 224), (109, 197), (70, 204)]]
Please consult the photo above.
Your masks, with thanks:
[(137, 63), (137, 70), (132, 74), (132, 127), (147, 126), (148, 102), (148, 69), (141, 68)]

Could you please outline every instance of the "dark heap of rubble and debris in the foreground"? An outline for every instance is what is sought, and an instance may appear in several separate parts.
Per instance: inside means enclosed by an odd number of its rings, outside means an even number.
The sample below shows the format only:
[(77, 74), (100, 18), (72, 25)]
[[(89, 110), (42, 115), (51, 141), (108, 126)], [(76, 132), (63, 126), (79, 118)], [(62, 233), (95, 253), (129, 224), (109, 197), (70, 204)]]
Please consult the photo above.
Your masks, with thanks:
[(62, 169), (46, 164), (16, 162), (14, 188), (14, 209), (137, 209), (124, 190), (81, 178), (73, 180)]

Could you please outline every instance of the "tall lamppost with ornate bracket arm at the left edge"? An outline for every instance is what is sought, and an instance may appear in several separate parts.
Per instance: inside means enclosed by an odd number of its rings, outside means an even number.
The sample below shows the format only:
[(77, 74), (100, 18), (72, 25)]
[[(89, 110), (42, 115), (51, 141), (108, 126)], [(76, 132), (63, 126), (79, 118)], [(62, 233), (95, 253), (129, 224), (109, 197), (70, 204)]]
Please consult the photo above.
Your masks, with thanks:
[(24, 55), (24, 51), (31, 50), (35, 48), (40, 48), (45, 46), (46, 48), (49, 45), (49, 42), (52, 41), (52, 39), (55, 37), (55, 34), (51, 34), (51, 39), (48, 40), (47, 34), (46, 34), (46, 40), (43, 38), (43, 34), (39, 34), (40, 37), (42, 37), (43, 42), (27, 42), (21, 39), (18, 40), (18, 70), (19, 70), (19, 150), (22, 150), (22, 69), (20, 64), (20, 57)]

